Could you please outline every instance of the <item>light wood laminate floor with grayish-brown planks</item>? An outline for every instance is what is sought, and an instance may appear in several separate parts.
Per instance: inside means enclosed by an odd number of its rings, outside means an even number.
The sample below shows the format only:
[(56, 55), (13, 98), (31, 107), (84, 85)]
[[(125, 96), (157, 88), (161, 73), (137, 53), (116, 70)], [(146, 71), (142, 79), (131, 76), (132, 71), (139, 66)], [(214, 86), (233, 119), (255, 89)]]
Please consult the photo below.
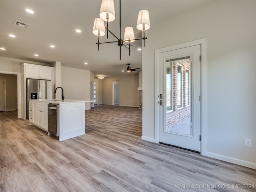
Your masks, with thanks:
[(95, 106), (61, 142), (28, 124), (0, 112), (2, 192), (256, 191), (256, 170), (141, 140), (138, 108)]

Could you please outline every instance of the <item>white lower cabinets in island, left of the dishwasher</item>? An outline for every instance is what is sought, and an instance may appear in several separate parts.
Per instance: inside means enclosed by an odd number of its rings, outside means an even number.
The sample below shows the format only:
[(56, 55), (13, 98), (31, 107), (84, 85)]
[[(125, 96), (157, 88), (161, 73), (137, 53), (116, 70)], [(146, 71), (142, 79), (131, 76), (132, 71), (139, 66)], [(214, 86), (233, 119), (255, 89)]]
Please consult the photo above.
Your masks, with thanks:
[(29, 101), (29, 122), (48, 132), (48, 103)]

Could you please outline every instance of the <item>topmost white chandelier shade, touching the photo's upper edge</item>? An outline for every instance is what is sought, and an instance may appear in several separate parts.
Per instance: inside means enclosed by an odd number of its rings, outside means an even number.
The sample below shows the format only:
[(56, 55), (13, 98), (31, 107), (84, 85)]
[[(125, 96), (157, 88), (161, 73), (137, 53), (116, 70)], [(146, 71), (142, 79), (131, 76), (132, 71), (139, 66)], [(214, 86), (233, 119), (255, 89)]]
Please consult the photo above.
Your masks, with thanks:
[(100, 18), (102, 20), (114, 21), (115, 20), (115, 7), (114, 0), (102, 0), (100, 6)]

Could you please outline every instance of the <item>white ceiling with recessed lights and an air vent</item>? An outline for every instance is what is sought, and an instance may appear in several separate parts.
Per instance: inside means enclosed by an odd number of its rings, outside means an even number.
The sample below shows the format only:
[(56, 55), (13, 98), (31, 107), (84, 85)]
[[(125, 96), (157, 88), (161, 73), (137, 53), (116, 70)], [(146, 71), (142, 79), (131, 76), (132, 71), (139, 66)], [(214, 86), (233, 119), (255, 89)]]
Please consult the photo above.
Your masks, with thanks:
[[(201, 6), (209, 0), (122, 0), (121, 38), (124, 28), (132, 26), (135, 38), (141, 38), (137, 30), (138, 12), (146, 9), (150, 13), (150, 26), (159, 20), (170, 18), (189, 9)], [(116, 20), (109, 23), (109, 29), (119, 37), (119, 1), (115, 0)], [(98, 75), (117, 76), (124, 74), (114, 69), (142, 68), (142, 41), (132, 43), (130, 56), (128, 49), (121, 47), (122, 60), (119, 60), (119, 46), (116, 43), (100, 44), (92, 33), (94, 18), (99, 17), (101, 0), (0, 0), (0, 56), (50, 63), (61, 62), (62, 66), (90, 70)], [(28, 14), (25, 9), (34, 10)], [(14, 25), (19, 20), (30, 24), (28, 28)], [(75, 32), (76, 29), (81, 33)], [(150, 30), (150, 29), (149, 29)], [(146, 37), (147, 36), (147, 31)], [(14, 34), (16, 38), (8, 35)], [(109, 34), (100, 37), (100, 42), (116, 41)], [(55, 48), (50, 48), (54, 44)], [(36, 57), (34, 54), (38, 54)], [(87, 65), (84, 62), (88, 62)], [(127, 73), (128, 74), (128, 73)]]

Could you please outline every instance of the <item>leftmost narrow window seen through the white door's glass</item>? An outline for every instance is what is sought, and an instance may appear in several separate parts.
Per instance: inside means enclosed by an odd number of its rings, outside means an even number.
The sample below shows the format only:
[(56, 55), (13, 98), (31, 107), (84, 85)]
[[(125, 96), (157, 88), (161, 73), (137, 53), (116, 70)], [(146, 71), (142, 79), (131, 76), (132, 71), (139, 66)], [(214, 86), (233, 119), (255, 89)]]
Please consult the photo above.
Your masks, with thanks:
[(172, 62), (166, 62), (166, 112), (172, 111)]

